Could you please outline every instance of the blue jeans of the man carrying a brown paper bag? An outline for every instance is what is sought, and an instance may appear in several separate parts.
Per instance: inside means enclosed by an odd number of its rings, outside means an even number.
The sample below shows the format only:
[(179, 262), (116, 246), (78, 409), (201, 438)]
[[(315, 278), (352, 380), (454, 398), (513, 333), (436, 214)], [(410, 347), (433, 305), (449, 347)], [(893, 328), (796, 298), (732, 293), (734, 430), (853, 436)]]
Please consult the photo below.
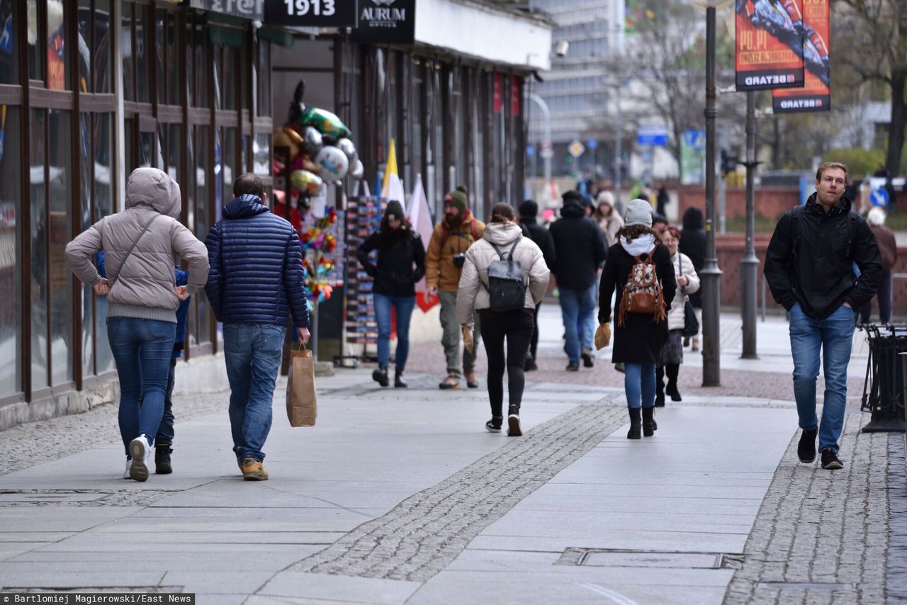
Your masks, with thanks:
[(229, 424), (239, 461), (265, 459), (261, 448), (271, 430), (274, 383), (286, 336), (287, 328), (274, 324), (224, 324)]

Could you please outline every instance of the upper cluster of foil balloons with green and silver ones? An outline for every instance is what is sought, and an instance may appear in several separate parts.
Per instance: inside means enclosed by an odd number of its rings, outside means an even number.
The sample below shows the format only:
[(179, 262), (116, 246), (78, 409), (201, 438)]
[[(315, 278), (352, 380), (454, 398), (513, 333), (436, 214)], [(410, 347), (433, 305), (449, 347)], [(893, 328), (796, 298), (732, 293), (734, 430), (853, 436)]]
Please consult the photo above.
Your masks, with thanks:
[(317, 196), (325, 183), (341, 181), (347, 174), (361, 180), (365, 169), (349, 129), (334, 113), (307, 107), (302, 101), (305, 93), (306, 82), (300, 80), (288, 121), (274, 132), (274, 146), (289, 148), (290, 187), (298, 197), (308, 199)]

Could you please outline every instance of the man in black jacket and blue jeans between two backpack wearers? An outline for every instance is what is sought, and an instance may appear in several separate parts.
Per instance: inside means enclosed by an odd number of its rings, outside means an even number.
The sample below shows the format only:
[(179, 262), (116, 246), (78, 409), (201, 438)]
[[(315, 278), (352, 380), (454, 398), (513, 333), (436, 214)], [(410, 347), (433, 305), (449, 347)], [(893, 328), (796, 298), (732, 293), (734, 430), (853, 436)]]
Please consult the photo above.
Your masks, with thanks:
[(558, 281), (561, 316), (567, 337), (568, 372), (592, 367), (595, 332), (595, 295), (598, 271), (608, 256), (608, 244), (599, 224), (586, 216), (582, 195), (567, 191), (561, 198), (561, 218), (551, 224), (556, 259), (551, 268)]

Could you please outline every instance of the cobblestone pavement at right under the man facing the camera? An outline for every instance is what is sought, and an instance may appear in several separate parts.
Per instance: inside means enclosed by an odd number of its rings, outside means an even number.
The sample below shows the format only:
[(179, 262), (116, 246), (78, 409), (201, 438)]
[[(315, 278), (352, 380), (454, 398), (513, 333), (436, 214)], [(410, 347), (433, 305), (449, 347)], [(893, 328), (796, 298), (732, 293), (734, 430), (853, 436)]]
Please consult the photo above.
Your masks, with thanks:
[(725, 603), (882, 603), (888, 551), (889, 440), (846, 415), (844, 470), (796, 459), (787, 448), (756, 516)]

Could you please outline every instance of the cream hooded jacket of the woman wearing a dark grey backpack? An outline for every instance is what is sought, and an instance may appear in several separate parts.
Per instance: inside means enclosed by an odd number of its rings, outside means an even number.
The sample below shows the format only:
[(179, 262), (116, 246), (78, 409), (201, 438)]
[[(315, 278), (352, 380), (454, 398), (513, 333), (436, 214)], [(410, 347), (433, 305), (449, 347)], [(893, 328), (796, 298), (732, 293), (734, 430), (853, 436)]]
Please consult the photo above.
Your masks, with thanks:
[[(488, 283), (488, 268), (498, 260), (492, 243), (501, 250), (504, 257), (510, 252), (513, 241), (522, 237), (522, 229), (515, 222), (488, 223), (482, 239), (466, 250), (466, 262), (460, 276), (460, 287), (456, 295), (456, 314), (461, 324), (473, 323), (473, 309), (491, 307), (491, 299), (485, 284)], [(523, 307), (535, 308), (548, 290), (551, 271), (541, 256), (541, 249), (532, 239), (523, 237), (513, 250), (513, 260), (522, 267), (522, 277), (528, 283)], [(481, 279), (481, 281), (480, 281)]]

